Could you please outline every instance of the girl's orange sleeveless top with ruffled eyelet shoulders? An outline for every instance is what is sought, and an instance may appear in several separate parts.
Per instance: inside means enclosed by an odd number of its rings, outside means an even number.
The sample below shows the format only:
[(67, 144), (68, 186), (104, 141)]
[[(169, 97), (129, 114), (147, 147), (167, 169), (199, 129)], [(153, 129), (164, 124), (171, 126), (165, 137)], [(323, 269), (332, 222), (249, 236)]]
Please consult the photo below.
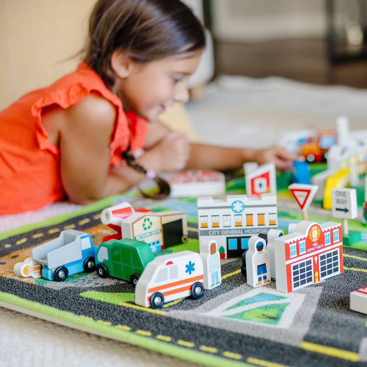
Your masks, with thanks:
[(60, 177), (59, 147), (47, 140), (42, 124), (45, 107), (68, 108), (97, 93), (116, 109), (110, 142), (110, 166), (121, 163), (120, 153), (144, 147), (147, 121), (124, 112), (121, 100), (102, 79), (82, 63), (47, 88), (30, 92), (0, 112), (0, 214), (34, 210), (65, 197)]

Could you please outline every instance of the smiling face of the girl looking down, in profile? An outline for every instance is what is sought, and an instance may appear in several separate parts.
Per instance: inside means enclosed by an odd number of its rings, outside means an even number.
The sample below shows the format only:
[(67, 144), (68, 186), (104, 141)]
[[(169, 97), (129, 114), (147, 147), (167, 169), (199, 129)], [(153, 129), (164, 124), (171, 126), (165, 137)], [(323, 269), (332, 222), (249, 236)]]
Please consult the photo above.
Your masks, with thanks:
[(124, 110), (156, 121), (174, 102), (187, 102), (187, 81), (198, 66), (201, 53), (199, 50), (145, 64), (130, 61), (128, 75), (116, 83)]

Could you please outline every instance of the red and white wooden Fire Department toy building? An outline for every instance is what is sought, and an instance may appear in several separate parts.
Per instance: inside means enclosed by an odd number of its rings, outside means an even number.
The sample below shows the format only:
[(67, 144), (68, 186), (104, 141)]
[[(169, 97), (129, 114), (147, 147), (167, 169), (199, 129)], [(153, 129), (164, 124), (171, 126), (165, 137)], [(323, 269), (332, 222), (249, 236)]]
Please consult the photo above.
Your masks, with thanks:
[(276, 289), (292, 292), (343, 273), (342, 225), (301, 221), (275, 239)]

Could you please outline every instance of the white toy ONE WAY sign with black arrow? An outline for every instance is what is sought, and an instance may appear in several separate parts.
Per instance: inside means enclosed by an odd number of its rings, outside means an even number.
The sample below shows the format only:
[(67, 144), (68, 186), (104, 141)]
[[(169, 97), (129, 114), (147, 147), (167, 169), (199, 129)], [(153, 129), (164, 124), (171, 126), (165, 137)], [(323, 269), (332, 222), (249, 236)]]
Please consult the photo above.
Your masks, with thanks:
[(355, 188), (333, 188), (331, 190), (331, 214), (334, 218), (357, 217), (357, 190)]

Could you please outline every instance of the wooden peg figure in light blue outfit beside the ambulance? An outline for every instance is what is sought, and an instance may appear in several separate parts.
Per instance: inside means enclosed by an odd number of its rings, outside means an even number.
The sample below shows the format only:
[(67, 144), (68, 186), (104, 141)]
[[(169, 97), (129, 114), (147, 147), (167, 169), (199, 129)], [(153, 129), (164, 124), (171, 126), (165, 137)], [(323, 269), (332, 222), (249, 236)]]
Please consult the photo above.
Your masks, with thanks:
[(204, 265), (204, 289), (215, 288), (222, 282), (217, 241), (204, 238), (200, 241), (199, 250)]

